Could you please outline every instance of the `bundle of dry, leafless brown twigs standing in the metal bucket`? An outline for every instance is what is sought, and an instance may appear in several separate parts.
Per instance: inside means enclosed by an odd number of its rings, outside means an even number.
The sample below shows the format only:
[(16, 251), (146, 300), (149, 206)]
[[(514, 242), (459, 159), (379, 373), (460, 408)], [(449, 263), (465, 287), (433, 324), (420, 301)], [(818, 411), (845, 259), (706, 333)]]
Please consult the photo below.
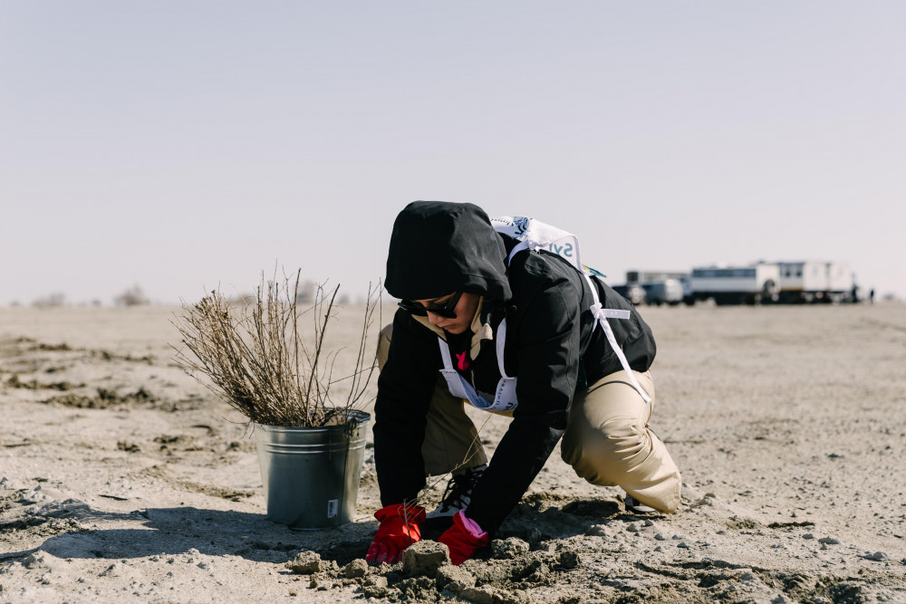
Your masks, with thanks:
[[(339, 285), (333, 290), (316, 286), (311, 306), (302, 310), (296, 273), (294, 281), (284, 277), (265, 283), (262, 279), (249, 304), (231, 304), (217, 291), (195, 304), (184, 303), (182, 315), (174, 321), (184, 344), (176, 349), (176, 361), (255, 423), (345, 424), (374, 371), (374, 355), (367, 353), (373, 347), (367, 346), (367, 340), (374, 312), (380, 308), (381, 285), (369, 286), (352, 375), (334, 378), (340, 350), (324, 350), (323, 344), (328, 325), (336, 318), (338, 291)], [(299, 331), (304, 319), (313, 321), (311, 340)], [(350, 380), (349, 393), (338, 403), (332, 400), (331, 389), (344, 380)]]

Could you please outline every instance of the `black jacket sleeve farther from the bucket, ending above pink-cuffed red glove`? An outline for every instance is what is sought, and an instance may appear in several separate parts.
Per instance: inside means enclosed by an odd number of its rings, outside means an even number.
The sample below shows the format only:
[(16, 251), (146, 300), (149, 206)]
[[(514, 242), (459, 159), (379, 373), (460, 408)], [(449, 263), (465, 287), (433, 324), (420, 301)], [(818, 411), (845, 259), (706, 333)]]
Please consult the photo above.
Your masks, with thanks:
[(533, 296), (507, 335), (517, 338), (519, 406), (466, 512), (487, 532), (519, 503), (563, 436), (579, 367), (579, 302), (575, 283), (558, 280)]

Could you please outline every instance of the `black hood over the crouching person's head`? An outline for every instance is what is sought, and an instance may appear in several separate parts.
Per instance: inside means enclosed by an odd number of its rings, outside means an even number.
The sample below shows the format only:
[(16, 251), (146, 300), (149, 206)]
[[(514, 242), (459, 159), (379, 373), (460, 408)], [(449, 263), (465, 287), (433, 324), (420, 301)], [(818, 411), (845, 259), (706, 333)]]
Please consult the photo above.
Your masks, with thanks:
[(413, 201), (393, 223), (384, 287), (403, 300), (453, 292), (509, 300), (503, 239), (478, 206)]

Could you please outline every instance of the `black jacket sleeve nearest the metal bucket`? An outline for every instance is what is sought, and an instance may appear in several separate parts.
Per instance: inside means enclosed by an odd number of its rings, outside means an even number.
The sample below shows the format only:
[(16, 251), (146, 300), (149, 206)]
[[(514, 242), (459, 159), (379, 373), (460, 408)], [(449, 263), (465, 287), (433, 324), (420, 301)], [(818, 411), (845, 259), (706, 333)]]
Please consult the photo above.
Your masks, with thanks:
[(381, 505), (414, 501), (425, 486), (425, 417), (438, 379), (438, 337), (398, 311), (374, 404), (374, 465)]

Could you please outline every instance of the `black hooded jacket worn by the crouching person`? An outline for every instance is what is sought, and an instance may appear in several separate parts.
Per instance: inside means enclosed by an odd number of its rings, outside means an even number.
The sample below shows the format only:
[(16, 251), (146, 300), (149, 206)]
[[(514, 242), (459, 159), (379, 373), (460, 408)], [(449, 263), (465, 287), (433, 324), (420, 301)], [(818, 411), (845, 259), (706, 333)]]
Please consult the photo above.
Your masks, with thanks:
[[(563, 436), (577, 390), (622, 369), (589, 307), (593, 295), (582, 274), (556, 254), (521, 252), (498, 234), (487, 214), (471, 204), (417, 201), (397, 217), (390, 237), (385, 286), (407, 300), (452, 292), (485, 299), (483, 321), (496, 328), (506, 316), (506, 372), (517, 378), (513, 421), (475, 486), (467, 516), (495, 532), (525, 494)], [(632, 369), (654, 360), (651, 329), (621, 295), (593, 279), (604, 308), (625, 309), (611, 320)], [(449, 340), (449, 339), (448, 339)], [(387, 362), (378, 379), (374, 455), (381, 503), (414, 501), (425, 486), (421, 446), (431, 394), (443, 368), (438, 336), (403, 310), (393, 320)], [(493, 393), (500, 372), (493, 340), (483, 340), (467, 379)]]

